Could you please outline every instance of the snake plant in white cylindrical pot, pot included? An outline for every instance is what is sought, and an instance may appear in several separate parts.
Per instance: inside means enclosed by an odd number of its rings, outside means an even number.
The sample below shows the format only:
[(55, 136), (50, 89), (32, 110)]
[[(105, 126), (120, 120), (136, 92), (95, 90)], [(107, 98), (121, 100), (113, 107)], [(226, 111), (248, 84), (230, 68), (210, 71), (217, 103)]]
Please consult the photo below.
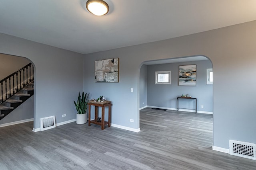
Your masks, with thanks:
[(89, 93), (84, 94), (82, 93), (82, 96), (80, 95), (80, 92), (78, 92), (78, 100), (74, 104), (76, 106), (77, 114), (76, 114), (76, 123), (77, 124), (84, 124), (87, 122), (87, 104), (89, 101)]

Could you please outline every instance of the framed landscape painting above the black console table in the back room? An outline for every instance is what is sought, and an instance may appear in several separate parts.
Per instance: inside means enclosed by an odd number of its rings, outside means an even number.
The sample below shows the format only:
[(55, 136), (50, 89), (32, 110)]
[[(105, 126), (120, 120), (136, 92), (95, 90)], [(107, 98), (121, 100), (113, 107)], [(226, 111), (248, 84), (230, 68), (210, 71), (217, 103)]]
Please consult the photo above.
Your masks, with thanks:
[(196, 86), (196, 65), (179, 67), (179, 86)]

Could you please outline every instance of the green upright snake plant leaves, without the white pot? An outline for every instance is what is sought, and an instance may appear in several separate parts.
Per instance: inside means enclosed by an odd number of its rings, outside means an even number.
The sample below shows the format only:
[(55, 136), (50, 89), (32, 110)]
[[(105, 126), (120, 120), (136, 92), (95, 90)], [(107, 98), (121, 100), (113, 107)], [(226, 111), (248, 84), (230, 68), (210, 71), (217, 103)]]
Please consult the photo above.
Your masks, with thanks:
[(74, 104), (76, 106), (77, 114), (85, 114), (87, 110), (87, 104), (89, 101), (89, 93), (84, 94), (82, 93), (82, 96), (80, 95), (80, 92), (78, 92), (78, 100)]

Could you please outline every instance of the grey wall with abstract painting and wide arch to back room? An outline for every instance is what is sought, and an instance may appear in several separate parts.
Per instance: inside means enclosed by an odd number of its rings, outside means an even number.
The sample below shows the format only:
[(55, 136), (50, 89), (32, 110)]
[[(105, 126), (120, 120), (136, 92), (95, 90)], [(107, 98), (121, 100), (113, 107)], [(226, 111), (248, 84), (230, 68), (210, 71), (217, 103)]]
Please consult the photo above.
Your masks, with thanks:
[[(229, 140), (256, 143), (252, 78), (256, 62), (256, 21), (120, 49), (84, 55), (84, 90), (113, 102), (112, 123), (138, 129), (139, 77), (144, 61), (204, 55), (212, 61), (213, 140), (228, 149)], [(95, 83), (94, 61), (120, 58), (119, 83)], [(130, 92), (134, 88), (134, 93)], [(253, 95), (249, 95), (253, 94)], [(129, 122), (134, 119), (134, 123)]]

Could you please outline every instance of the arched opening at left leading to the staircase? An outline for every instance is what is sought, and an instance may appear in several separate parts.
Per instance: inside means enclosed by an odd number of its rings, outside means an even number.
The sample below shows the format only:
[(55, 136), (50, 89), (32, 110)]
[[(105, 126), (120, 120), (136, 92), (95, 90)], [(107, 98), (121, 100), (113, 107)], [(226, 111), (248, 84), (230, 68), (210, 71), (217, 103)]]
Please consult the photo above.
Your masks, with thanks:
[[(24, 122), (28, 122), (28, 121), (34, 121), (34, 101), (35, 101), (34, 96), (35, 95), (33, 95), (34, 94), (34, 84), (32, 84), (32, 83), (34, 83), (33, 79), (35, 77), (34, 76), (35, 75), (34, 74), (34, 70), (35, 70), (34, 64), (32, 63), (32, 61), (30, 61), (29, 59), (27, 59), (25, 57), (19, 57), (19, 56), (2, 54), (2, 53), (0, 53), (0, 61), (1, 61), (1, 63), (0, 63), (0, 71), (1, 71), (0, 80), (6, 78), (10, 74), (13, 74), (17, 70), (20, 70), (20, 68), (23, 68), (24, 66), (29, 65), (26, 68), (24, 68), (23, 70), (21, 70), (19, 73), (15, 74), (12, 78), (10, 78), (10, 80), (8, 80), (11, 83), (7, 82), (8, 88), (6, 88), (6, 89), (7, 89), (7, 91), (8, 91), (8, 89), (12, 89), (11, 95), (13, 95), (14, 93), (20, 93), (21, 89), (24, 90), (25, 86), (30, 84), (30, 86), (26, 86), (26, 88), (27, 88), (26, 91), (28, 92), (27, 96), (24, 95), (24, 96), (20, 97), (19, 99), (17, 99), (17, 100), (24, 101), (24, 102), (22, 102), (22, 104), (18, 105), (17, 107), (14, 107), (14, 109), (11, 111), (6, 111), (6, 110), (2, 111), (2, 113), (3, 113), (2, 115), (4, 115), (4, 116), (0, 120), (0, 127), (13, 125), (13, 124), (17, 124), (17, 123), (24, 123)], [(32, 64), (30, 64), (30, 63), (32, 63)], [(17, 88), (17, 85), (18, 85), (18, 88)], [(10, 92), (9, 92), (10, 90), (8, 91), (8, 93), (6, 93), (4, 86), (6, 86), (5, 83), (3, 83), (4, 89), (2, 90), (3, 91), (2, 96), (3, 96), (3, 94), (4, 94), (4, 96), (1, 97), (1, 101), (2, 101), (2, 98), (4, 100), (6, 100), (6, 96), (10, 95)], [(30, 88), (30, 89), (28, 89), (28, 88)], [(18, 92), (18, 91), (20, 91), (20, 92)], [(22, 93), (24, 91), (22, 91)], [(30, 96), (28, 96), (28, 95), (30, 95)], [(14, 98), (13, 97), (12, 97), (12, 99), (16, 98), (16, 97), (14, 97)], [(4, 106), (6, 104), (4, 102), (1, 102), (1, 105)]]

